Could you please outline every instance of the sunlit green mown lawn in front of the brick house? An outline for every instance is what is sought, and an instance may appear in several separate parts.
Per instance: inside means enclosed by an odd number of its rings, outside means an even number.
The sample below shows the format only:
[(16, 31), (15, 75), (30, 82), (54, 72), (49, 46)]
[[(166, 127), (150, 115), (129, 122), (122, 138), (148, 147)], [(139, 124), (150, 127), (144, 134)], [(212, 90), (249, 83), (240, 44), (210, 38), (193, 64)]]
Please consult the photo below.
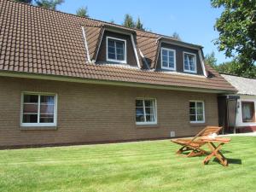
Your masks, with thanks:
[(232, 137), (230, 159), (202, 165), (168, 140), (0, 151), (0, 191), (255, 191), (256, 137)]

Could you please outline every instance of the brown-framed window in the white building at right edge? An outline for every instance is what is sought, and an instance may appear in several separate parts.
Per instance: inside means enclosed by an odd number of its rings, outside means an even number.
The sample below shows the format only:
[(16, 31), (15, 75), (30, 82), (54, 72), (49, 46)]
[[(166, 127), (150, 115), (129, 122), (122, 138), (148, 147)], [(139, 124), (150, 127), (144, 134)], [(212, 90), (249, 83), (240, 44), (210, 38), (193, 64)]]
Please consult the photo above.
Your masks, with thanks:
[(242, 122), (254, 122), (254, 102), (241, 102)]

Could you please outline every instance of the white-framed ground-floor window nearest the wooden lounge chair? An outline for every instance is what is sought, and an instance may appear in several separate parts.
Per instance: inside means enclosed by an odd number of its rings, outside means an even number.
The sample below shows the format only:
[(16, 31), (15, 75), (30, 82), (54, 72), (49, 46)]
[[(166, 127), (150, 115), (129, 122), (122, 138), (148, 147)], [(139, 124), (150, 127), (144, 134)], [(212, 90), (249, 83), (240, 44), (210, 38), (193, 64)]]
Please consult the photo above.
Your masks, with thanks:
[(201, 101), (189, 102), (189, 119), (190, 123), (205, 122), (205, 104)]

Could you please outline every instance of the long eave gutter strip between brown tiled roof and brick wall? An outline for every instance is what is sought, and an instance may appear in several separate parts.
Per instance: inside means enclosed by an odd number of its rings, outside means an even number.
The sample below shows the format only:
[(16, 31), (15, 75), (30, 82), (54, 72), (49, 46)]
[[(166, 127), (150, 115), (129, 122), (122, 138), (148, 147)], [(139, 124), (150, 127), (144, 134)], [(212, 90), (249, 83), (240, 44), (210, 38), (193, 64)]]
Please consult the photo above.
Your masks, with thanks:
[(105, 85), (126, 86), (126, 87), (135, 87), (135, 88), (148, 88), (148, 89), (156, 89), (156, 90), (181, 90), (181, 91), (216, 93), (216, 94), (236, 93), (235, 90), (214, 90), (214, 89), (206, 89), (206, 88), (179, 87), (175, 85), (172, 86), (172, 85), (162, 85), (162, 84), (143, 84), (143, 83), (137, 83), (137, 82), (85, 79), (85, 78), (75, 78), (75, 77), (69, 77), (69, 76), (67, 77), (63, 75), (25, 73), (25, 72), (20, 73), (20, 72), (0, 71), (0, 77), (54, 80), (54, 81), (61, 81), (61, 82), (83, 83), (83, 84), (105, 84)]

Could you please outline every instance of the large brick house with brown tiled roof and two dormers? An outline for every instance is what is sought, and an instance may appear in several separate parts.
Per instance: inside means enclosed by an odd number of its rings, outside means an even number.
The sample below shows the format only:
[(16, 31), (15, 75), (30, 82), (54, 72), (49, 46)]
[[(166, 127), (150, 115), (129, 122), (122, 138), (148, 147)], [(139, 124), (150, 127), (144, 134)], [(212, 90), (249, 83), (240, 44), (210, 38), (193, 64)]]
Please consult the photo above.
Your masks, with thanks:
[(0, 145), (191, 136), (236, 89), (175, 38), (0, 0)]

